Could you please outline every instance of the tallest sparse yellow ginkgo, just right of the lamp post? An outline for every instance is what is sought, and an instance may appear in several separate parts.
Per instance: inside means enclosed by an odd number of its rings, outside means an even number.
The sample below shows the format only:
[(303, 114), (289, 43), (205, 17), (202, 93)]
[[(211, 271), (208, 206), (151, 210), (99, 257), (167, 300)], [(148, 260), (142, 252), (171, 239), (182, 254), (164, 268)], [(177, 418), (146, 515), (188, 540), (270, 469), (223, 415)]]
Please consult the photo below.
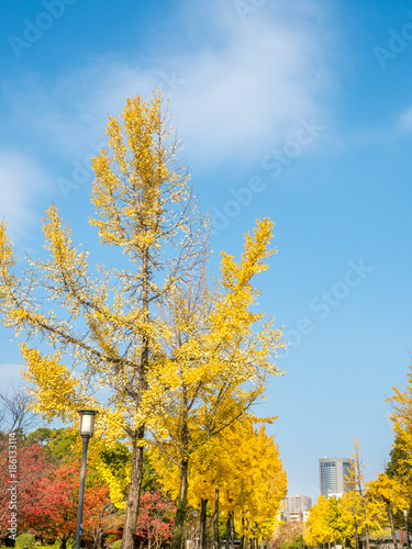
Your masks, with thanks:
[[(76, 410), (92, 407), (98, 437), (131, 445), (123, 548), (132, 549), (147, 419), (141, 405), (163, 329), (154, 305), (196, 277), (207, 228), (159, 92), (148, 101), (129, 99), (122, 119), (109, 117), (107, 133), (108, 150), (92, 161), (96, 215), (89, 222), (114, 250), (112, 264), (91, 268), (89, 253), (74, 244), (52, 206), (43, 223), (48, 258), (29, 257), (18, 276), (1, 223), (0, 310), (8, 327), (34, 341), (21, 347), (25, 377), (35, 385), (34, 410), (76, 422)], [(101, 399), (98, 388), (104, 388)]]

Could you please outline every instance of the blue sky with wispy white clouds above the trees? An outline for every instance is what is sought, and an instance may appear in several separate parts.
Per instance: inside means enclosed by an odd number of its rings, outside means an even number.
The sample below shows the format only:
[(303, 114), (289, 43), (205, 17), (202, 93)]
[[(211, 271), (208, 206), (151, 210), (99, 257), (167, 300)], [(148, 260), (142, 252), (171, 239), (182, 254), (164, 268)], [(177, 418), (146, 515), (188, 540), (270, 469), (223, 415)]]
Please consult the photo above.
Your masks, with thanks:
[[(40, 251), (51, 202), (87, 242), (107, 115), (160, 87), (212, 267), (276, 222), (260, 305), (291, 346), (260, 413), (279, 416), (290, 495), (315, 497), (319, 458), (354, 438), (372, 478), (412, 348), (412, 2), (16, 0), (0, 18), (0, 217), (18, 251)], [(7, 389), (20, 356), (1, 336)]]

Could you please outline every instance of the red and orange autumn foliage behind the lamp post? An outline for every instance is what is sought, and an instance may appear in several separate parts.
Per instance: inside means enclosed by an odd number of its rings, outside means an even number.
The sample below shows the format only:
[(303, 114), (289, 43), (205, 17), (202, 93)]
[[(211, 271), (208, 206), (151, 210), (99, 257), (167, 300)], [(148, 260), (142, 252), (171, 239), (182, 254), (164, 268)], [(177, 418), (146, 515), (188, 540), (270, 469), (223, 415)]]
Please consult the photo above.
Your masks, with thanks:
[[(60, 429), (64, 432), (64, 429)], [(62, 439), (60, 435), (60, 439)], [(70, 434), (66, 437), (70, 440)], [(18, 446), (18, 530), (35, 534), (45, 544), (60, 544), (63, 548), (73, 541), (78, 511), (80, 460), (73, 449), (56, 461), (48, 446), (26, 444), (19, 439)], [(54, 452), (58, 452), (58, 448)], [(5, 466), (9, 456), (7, 441), (1, 441), (0, 460)], [(1, 478), (1, 535), (9, 537), (10, 479), (7, 467)], [(124, 514), (110, 500), (108, 483), (99, 477), (94, 466), (89, 467), (83, 502), (82, 539), (94, 548), (122, 536)], [(145, 547), (154, 549), (171, 539), (176, 506), (159, 492), (145, 492), (138, 515), (136, 536)]]

